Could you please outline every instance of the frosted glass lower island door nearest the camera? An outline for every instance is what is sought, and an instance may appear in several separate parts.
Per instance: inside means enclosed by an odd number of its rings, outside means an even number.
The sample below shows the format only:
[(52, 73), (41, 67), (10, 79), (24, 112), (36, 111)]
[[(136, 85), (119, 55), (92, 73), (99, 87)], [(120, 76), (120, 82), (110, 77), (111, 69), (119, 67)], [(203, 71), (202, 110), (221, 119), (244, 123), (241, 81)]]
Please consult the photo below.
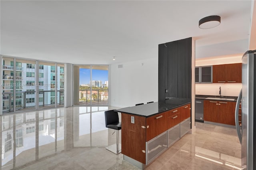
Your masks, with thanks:
[(146, 142), (146, 165), (167, 149), (167, 131)]

